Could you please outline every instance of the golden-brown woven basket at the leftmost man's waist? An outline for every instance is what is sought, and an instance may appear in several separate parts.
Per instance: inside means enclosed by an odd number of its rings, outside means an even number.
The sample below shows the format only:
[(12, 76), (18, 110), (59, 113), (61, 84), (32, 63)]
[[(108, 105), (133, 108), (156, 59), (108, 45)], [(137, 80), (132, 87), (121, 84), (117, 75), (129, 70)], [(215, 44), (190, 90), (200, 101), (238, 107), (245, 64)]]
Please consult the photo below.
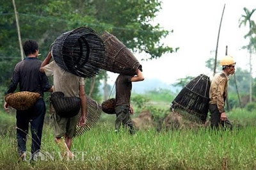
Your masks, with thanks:
[(10, 93), (4, 97), (8, 105), (18, 111), (25, 111), (35, 104), (40, 97), (39, 93), (20, 91), (17, 93)]

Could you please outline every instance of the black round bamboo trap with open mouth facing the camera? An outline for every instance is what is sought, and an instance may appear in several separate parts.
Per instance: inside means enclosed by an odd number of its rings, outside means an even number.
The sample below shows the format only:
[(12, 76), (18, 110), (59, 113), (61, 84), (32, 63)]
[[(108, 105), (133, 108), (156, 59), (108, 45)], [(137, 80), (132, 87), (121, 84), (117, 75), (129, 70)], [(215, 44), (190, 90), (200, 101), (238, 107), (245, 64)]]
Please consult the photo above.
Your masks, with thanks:
[(93, 77), (106, 65), (103, 40), (90, 27), (79, 27), (58, 36), (51, 54), (58, 66), (79, 77)]

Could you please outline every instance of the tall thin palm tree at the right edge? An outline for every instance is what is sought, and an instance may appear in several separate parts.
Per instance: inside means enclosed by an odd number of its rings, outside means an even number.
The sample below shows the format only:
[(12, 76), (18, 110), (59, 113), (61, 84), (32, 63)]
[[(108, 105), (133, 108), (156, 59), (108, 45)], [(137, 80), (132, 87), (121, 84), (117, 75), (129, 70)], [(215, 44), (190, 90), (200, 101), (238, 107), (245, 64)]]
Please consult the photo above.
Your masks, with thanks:
[(244, 38), (247, 38), (247, 37), (250, 38), (250, 43), (248, 46), (246, 46), (246, 48), (250, 52), (249, 83), (250, 83), (250, 102), (252, 102), (252, 52), (253, 52), (253, 50), (255, 50), (255, 45), (253, 45), (253, 35), (256, 34), (256, 25), (255, 25), (254, 20), (251, 20), (251, 17), (253, 15), (253, 12), (255, 12), (256, 9), (253, 9), (252, 12), (250, 12), (250, 10), (248, 10), (247, 8), (243, 8), (243, 9), (244, 9), (245, 15), (242, 15), (241, 19), (239, 20), (239, 22), (240, 22), (239, 27), (241, 27), (242, 25), (246, 26), (246, 24), (249, 23), (249, 32), (246, 35), (244, 35)]

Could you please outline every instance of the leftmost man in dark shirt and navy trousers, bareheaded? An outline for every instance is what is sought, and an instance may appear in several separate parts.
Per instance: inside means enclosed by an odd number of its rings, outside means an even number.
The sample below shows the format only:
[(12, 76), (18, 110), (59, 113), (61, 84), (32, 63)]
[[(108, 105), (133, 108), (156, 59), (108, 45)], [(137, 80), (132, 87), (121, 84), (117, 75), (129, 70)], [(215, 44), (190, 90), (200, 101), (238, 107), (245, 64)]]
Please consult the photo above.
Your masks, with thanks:
[[(38, 44), (35, 40), (27, 40), (23, 43), (23, 50), (26, 58), (14, 68), (13, 77), (9, 89), (6, 94), (13, 93), (19, 84), (20, 91), (30, 91), (40, 94), (40, 98), (36, 103), (25, 111), (16, 111), (17, 124), (17, 144), (18, 154), (20, 158), (26, 156), (26, 135), (28, 134), (29, 123), (31, 126), (32, 158), (39, 153), (42, 138), (42, 129), (45, 116), (44, 92), (52, 91), (52, 86), (49, 84), (44, 73), (39, 71), (42, 61), (37, 59)], [(8, 111), (8, 104), (4, 102), (4, 109)]]

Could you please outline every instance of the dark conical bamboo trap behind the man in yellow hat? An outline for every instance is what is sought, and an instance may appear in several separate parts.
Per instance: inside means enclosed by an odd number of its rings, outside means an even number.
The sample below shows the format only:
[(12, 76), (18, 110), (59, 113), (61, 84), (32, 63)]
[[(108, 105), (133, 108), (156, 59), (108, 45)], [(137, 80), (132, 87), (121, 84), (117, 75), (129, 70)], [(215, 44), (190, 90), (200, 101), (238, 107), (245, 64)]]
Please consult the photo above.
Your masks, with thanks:
[(190, 81), (173, 100), (174, 109), (182, 118), (205, 123), (209, 109), (210, 78), (204, 74)]

